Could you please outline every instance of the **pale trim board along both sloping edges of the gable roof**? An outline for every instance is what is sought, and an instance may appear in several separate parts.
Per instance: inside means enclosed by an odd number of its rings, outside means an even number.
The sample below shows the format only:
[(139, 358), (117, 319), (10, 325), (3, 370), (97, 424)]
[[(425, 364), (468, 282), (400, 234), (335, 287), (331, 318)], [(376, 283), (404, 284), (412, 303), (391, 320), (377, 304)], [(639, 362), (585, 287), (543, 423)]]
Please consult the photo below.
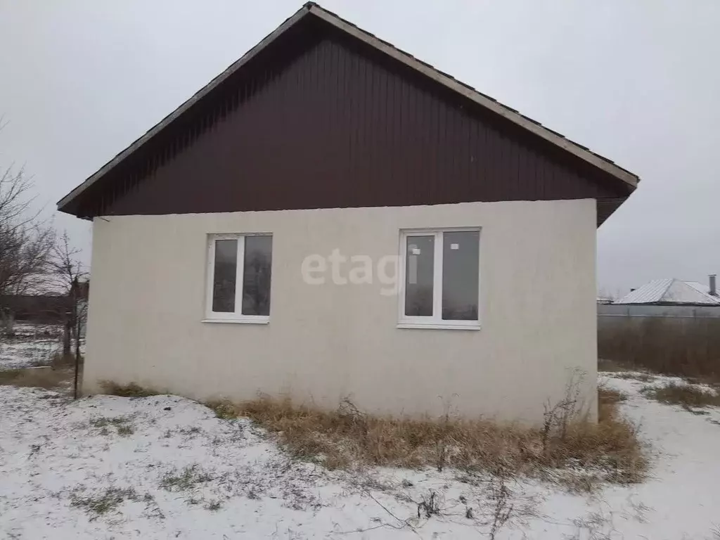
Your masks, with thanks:
[(145, 145), (145, 143), (148, 143), (150, 139), (158, 135), (158, 133), (163, 131), (168, 125), (171, 125), (174, 121), (179, 119), (179, 117), (181, 117), (184, 112), (186, 112), (194, 104), (199, 102), (213, 89), (216, 89), (218, 86), (220, 86), (226, 79), (232, 76), (233, 73), (236, 73), (238, 70), (240, 70), (240, 68), (245, 66), (249, 60), (258, 55), (258, 53), (268, 47), (268, 45), (274, 42), (274, 40), (276, 40), (279, 36), (283, 35), (285, 32), (287, 32), (287, 30), (289, 30), (289, 28), (293, 27), (295, 24), (297, 24), (297, 22), (307, 17), (308, 15), (312, 15), (318, 17), (319, 19), (322, 19), (328, 24), (331, 24), (333, 27), (336, 27), (338, 30), (345, 32), (347, 35), (351, 35), (352, 37), (361, 40), (362, 42), (378, 50), (379, 52), (384, 53), (385, 55), (388, 55), (397, 61), (400, 61), (401, 63), (405, 64), (405, 66), (408, 66), (409, 68), (417, 71), (418, 73), (421, 73), (423, 76), (426, 76), (431, 80), (436, 81), (437, 83), (445, 86), (451, 91), (456, 92), (457, 94), (466, 97), (467, 99), (471, 99), (473, 102), (479, 104), (481, 107), (487, 109), (488, 111), (498, 114), (500, 117), (503, 117), (506, 120), (513, 122), (524, 130), (527, 130), (528, 132), (537, 135), (539, 138), (542, 138), (547, 142), (552, 143), (552, 145), (555, 145), (558, 148), (562, 148), (562, 150), (571, 153), (577, 158), (580, 158), (581, 160), (589, 163), (591, 166), (598, 168), (600, 171), (604, 171), (606, 174), (610, 174), (611, 176), (623, 181), (630, 192), (636, 188), (639, 182), (639, 178), (635, 174), (632, 174), (630, 171), (627, 171), (626, 169), (616, 165), (607, 158), (603, 158), (603, 156), (599, 156), (598, 154), (593, 153), (592, 151), (588, 150), (588, 148), (574, 143), (572, 142), (572, 140), (564, 138), (564, 136), (560, 135), (558, 132), (544, 127), (539, 122), (523, 116), (515, 109), (511, 109), (510, 107), (506, 107), (505, 105), (500, 104), (500, 102), (492, 99), (490, 96), (481, 94), (479, 91), (473, 89), (471, 86), (463, 84), (462, 82), (457, 81), (455, 78), (447, 75), (446, 73), (438, 71), (436, 68), (433, 68), (429, 64), (424, 63), (423, 61), (413, 57), (413, 55), (405, 53), (404, 51), (396, 48), (388, 42), (379, 39), (371, 33), (361, 30), (359, 27), (356, 27), (354, 24), (351, 24), (345, 19), (338, 17), (336, 14), (328, 12), (326, 9), (321, 8), (320, 6), (318, 6), (318, 4), (315, 4), (314, 2), (307, 2), (307, 4), (302, 6), (302, 8), (300, 8), (295, 14), (293, 14), (292, 17), (286, 19), (273, 32), (264, 37), (264, 39), (261, 40), (261, 42), (259, 42), (255, 47), (251, 48), (251, 50), (248, 50), (248, 52), (245, 53), (239, 60), (235, 61), (235, 63), (230, 65), (225, 71), (220, 73), (220, 75), (213, 78), (210, 83), (197, 91), (196, 94), (194, 94), (186, 102), (181, 104), (180, 107), (174, 110), (174, 112), (168, 114), (168, 116), (163, 118), (163, 120), (158, 122), (158, 124), (156, 124), (150, 130), (148, 130), (145, 135), (138, 138), (138, 140), (135, 140), (134, 143), (125, 148), (125, 150), (122, 150), (122, 152), (112, 158), (111, 161), (102, 166), (99, 171), (96, 171), (95, 174), (90, 176), (82, 184), (77, 186), (65, 197), (60, 199), (60, 201), (58, 201), (58, 210), (60, 210), (61, 212), (73, 213), (71, 209), (71, 204), (75, 202), (76, 199), (78, 199), (78, 197), (80, 197), (81, 194), (86, 191), (86, 189), (89, 189), (89, 187), (94, 185), (97, 181), (99, 181), (99, 179), (102, 179), (106, 174), (109, 173), (109, 171), (112, 171), (116, 166), (122, 163), (122, 161), (125, 161), (127, 157), (132, 155), (132, 153), (135, 153), (135, 151)]

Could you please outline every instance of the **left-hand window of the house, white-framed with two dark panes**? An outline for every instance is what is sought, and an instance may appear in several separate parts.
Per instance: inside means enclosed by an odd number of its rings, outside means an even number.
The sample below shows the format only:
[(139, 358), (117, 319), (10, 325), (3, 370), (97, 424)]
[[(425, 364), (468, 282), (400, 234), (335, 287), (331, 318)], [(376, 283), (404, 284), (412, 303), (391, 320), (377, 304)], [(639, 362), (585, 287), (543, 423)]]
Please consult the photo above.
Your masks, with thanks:
[(269, 321), (271, 235), (210, 235), (207, 265), (206, 320)]

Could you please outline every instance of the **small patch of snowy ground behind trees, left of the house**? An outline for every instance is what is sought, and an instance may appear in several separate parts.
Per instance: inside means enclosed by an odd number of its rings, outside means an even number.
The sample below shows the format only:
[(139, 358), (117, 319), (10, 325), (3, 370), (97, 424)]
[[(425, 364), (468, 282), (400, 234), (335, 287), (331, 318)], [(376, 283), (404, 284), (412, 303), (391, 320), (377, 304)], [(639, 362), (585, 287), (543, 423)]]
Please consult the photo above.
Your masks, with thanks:
[(0, 371), (30, 366), (47, 366), (60, 346), (58, 325), (17, 323), (15, 336), (0, 336)]

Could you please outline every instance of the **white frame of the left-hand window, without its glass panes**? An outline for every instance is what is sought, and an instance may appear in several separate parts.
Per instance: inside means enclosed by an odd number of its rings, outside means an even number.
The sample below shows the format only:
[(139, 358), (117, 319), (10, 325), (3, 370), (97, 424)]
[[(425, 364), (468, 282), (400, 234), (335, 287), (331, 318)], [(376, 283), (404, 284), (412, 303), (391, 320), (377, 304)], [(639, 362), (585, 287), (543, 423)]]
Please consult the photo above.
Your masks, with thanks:
[[(245, 271), (245, 238), (272, 236), (272, 233), (213, 233), (207, 235), (207, 276), (205, 284), (205, 318), (203, 323), (268, 324), (270, 315), (243, 315), (243, 272)], [(238, 258), (235, 267), (235, 312), (212, 310), (212, 289), (215, 278), (215, 241), (238, 240)], [(272, 304), (272, 268), (270, 270), (270, 302)]]

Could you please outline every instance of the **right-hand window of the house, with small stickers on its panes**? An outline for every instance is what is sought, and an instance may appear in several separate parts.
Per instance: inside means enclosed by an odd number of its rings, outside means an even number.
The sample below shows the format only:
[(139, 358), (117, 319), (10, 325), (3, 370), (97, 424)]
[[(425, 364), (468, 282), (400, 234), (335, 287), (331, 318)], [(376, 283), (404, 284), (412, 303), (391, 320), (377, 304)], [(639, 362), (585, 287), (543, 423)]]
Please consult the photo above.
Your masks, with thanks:
[(480, 328), (480, 230), (405, 231), (400, 326)]

